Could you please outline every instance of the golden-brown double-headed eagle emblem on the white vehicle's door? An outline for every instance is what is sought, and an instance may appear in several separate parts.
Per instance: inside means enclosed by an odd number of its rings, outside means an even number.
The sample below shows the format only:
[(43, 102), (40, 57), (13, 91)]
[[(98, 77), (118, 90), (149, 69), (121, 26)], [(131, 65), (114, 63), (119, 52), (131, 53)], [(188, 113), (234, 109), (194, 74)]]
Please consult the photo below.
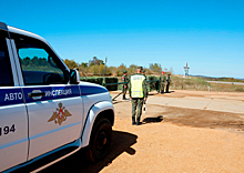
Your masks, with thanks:
[(63, 106), (63, 103), (60, 102), (58, 105), (59, 108), (55, 109), (55, 112), (53, 112), (48, 122), (54, 121), (55, 124), (59, 123), (61, 125), (67, 120), (67, 116), (71, 116), (72, 114)]

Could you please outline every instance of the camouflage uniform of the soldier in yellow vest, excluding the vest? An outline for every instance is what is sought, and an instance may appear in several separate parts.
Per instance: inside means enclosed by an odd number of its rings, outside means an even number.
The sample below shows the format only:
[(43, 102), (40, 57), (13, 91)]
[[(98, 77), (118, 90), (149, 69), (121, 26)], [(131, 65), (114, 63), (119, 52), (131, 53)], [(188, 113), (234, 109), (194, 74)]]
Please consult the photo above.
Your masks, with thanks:
[[(143, 75), (143, 74), (136, 73), (136, 74), (133, 74), (133, 75)], [(131, 91), (132, 81), (131, 81), (131, 78), (133, 75), (130, 77), (130, 84), (129, 84), (130, 98), (132, 98), (132, 91)], [(141, 115), (142, 115), (142, 106), (143, 106), (144, 98), (148, 98), (146, 80), (143, 80), (142, 88), (143, 88), (143, 98), (132, 98), (132, 100), (131, 100), (131, 102), (132, 102), (132, 124), (135, 124), (135, 112), (136, 112), (136, 109), (138, 109), (136, 125), (140, 124), (140, 119), (141, 119)]]

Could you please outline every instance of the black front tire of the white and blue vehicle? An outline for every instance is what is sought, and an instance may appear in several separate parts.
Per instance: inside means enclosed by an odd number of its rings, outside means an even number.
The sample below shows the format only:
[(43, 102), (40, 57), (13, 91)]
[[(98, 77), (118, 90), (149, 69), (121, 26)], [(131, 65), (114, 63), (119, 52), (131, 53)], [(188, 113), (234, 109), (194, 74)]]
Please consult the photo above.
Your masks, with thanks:
[(98, 162), (104, 159), (110, 150), (112, 138), (112, 126), (108, 119), (101, 119), (95, 122), (90, 144), (88, 146), (88, 160)]

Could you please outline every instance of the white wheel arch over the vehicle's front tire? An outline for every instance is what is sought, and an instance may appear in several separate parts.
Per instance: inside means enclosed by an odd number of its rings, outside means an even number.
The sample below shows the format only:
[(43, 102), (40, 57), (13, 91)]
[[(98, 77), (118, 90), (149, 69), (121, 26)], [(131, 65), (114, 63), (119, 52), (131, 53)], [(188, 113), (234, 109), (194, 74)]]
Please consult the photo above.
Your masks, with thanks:
[(102, 101), (90, 109), (81, 134), (82, 146), (89, 145), (93, 125), (102, 118), (108, 119), (111, 125), (114, 124), (114, 108), (111, 102)]

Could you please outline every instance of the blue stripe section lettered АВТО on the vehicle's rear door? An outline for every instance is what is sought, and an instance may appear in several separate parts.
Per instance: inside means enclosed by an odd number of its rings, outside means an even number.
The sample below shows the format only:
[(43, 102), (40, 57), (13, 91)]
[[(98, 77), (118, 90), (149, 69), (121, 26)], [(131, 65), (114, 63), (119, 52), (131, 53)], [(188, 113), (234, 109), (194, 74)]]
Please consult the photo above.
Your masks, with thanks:
[(21, 89), (0, 89), (0, 106), (23, 103)]

